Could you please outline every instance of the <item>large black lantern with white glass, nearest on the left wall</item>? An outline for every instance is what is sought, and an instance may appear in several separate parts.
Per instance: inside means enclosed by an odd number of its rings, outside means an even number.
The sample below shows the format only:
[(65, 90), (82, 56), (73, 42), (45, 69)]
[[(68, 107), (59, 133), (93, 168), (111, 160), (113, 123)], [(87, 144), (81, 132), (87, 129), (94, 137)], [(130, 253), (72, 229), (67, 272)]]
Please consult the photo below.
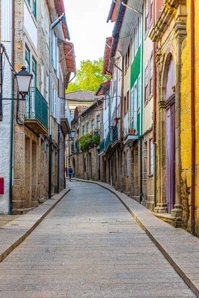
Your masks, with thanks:
[(22, 66), (21, 71), (15, 74), (17, 90), (18, 93), (21, 94), (22, 99), (24, 99), (25, 95), (29, 92), (32, 76), (32, 74), (26, 71), (25, 66)]

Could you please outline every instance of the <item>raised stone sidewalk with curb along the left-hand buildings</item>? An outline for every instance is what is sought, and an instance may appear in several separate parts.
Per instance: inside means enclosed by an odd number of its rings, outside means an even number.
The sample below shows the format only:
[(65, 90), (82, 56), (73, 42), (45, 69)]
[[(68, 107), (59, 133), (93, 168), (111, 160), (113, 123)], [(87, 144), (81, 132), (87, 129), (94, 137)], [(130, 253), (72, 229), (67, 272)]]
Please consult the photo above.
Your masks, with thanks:
[(0, 262), (18, 246), (70, 191), (66, 188), (39, 207), (0, 227)]

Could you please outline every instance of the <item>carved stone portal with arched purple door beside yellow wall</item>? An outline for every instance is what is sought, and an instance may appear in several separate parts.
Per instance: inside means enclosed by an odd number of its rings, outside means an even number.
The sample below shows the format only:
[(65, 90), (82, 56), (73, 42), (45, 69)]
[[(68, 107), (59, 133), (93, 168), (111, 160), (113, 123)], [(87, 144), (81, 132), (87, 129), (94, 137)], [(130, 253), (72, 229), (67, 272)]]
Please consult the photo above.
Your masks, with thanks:
[(182, 42), (187, 35), (186, 23), (186, 1), (166, 1), (150, 35), (152, 41), (158, 43), (155, 214), (175, 226), (182, 224), (180, 90), (181, 52)]

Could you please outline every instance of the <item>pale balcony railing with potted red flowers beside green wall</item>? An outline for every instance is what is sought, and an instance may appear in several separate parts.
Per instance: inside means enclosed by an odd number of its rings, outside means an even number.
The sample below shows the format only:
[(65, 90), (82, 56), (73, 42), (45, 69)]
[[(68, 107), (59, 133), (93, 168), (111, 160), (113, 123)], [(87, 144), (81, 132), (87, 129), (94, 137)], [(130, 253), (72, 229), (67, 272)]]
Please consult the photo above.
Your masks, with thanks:
[(123, 118), (124, 138), (127, 135), (137, 135), (137, 111), (127, 111)]

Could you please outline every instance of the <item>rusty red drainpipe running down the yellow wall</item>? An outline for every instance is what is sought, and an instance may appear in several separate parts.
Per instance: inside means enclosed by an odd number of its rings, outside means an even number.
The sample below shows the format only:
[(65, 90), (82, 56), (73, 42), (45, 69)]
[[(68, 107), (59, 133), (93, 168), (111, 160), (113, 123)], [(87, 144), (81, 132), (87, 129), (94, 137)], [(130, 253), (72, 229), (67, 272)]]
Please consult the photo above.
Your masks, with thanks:
[(194, 0), (191, 0), (191, 126), (192, 126), (192, 192), (191, 232), (195, 232), (195, 177), (196, 177), (196, 136), (195, 136), (195, 15)]

